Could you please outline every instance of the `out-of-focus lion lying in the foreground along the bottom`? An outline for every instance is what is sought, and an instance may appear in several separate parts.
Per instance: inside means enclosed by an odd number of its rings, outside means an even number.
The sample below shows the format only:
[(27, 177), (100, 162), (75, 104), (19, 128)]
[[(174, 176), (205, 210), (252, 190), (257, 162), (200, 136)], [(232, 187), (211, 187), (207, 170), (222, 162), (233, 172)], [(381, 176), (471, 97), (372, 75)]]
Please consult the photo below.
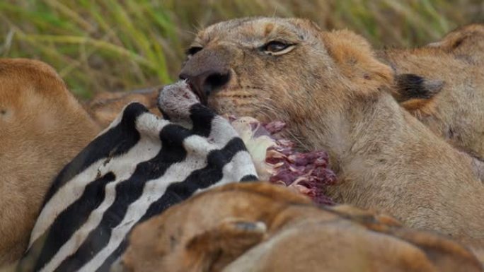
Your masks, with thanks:
[(117, 271), (483, 270), (446, 237), (250, 182), (205, 191), (137, 226)]

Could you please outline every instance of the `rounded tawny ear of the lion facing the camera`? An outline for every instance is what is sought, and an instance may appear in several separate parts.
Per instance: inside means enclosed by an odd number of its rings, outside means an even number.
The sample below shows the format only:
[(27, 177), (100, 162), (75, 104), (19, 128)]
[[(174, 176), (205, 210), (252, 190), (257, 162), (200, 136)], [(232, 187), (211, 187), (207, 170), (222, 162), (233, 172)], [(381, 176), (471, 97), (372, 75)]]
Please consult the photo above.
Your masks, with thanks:
[(376, 59), (369, 42), (349, 30), (323, 32), (323, 42), (347, 84), (357, 95), (371, 95), (393, 83), (393, 70)]

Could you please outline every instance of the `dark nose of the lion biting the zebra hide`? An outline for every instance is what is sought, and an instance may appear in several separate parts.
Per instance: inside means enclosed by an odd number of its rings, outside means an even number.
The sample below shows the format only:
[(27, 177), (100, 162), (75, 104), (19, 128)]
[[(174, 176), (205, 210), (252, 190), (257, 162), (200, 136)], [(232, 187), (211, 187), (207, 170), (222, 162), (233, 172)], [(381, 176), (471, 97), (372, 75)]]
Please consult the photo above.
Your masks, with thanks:
[(180, 79), (185, 79), (192, 88), (192, 92), (200, 97), (203, 104), (207, 104), (207, 99), (211, 93), (224, 88), (230, 81), (230, 71), (228, 70), (208, 70), (201, 73), (180, 73)]

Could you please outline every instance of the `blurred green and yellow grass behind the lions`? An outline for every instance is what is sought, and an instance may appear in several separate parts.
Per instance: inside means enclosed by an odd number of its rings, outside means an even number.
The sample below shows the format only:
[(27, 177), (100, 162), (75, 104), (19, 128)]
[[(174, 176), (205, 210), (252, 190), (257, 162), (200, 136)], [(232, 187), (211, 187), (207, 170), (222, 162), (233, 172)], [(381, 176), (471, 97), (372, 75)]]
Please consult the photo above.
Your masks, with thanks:
[(482, 0), (0, 0), (0, 56), (54, 66), (79, 97), (177, 78), (197, 28), (240, 16), (298, 16), (408, 47), (484, 21)]

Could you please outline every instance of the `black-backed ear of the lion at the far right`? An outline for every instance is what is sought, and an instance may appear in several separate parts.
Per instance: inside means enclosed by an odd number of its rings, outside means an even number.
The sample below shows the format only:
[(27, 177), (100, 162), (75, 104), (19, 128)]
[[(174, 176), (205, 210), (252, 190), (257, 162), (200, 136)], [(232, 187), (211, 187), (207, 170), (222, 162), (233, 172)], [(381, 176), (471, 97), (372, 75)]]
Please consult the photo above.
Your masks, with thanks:
[(444, 81), (432, 80), (413, 73), (395, 76), (393, 97), (414, 115), (427, 115), (433, 111), (433, 98), (444, 87)]

